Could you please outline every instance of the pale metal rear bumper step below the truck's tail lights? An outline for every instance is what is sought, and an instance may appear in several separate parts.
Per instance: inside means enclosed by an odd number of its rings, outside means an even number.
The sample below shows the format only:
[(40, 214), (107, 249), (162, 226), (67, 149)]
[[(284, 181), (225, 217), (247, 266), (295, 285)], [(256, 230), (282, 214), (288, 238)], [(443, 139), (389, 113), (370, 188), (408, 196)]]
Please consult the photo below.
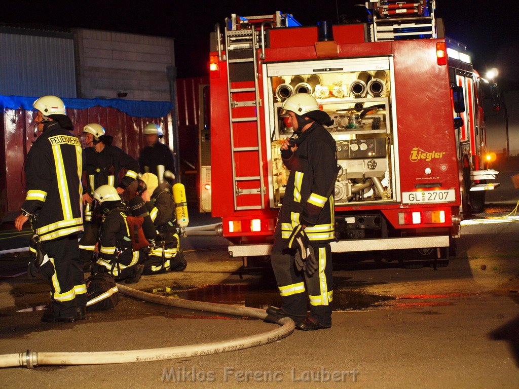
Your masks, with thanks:
[[(356, 251), (397, 250), (406, 248), (448, 247), (448, 235), (435, 237), (406, 237), (381, 239), (350, 239), (332, 242), (332, 253)], [(252, 257), (269, 255), (271, 244), (229, 245), (231, 257)]]

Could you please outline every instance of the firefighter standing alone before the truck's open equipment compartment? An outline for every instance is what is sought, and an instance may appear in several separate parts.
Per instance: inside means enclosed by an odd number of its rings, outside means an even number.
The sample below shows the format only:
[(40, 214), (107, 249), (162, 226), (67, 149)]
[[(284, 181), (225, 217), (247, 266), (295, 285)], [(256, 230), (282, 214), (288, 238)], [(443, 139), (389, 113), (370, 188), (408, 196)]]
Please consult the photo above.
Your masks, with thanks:
[(291, 119), (294, 134), (281, 145), (290, 175), (270, 254), (282, 306), (269, 307), (267, 319), (289, 316), (297, 329), (330, 328), (330, 242), (335, 239), (333, 188), (338, 168), (335, 141), (322, 124), (329, 126), (332, 120), (307, 93), (291, 96), (283, 109)]

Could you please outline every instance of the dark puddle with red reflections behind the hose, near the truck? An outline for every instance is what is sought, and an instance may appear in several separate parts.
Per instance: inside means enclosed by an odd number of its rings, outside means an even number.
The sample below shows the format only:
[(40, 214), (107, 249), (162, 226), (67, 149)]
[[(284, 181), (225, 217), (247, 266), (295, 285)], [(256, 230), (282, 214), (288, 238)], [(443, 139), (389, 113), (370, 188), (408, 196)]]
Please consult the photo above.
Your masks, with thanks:
[[(192, 301), (214, 302), (218, 304), (240, 305), (266, 309), (269, 305), (279, 307), (281, 299), (278, 290), (262, 289), (248, 284), (212, 284), (200, 287), (161, 287), (151, 293)], [(335, 289), (333, 291), (333, 310), (358, 311), (380, 307), (394, 297), (365, 294), (360, 291)]]

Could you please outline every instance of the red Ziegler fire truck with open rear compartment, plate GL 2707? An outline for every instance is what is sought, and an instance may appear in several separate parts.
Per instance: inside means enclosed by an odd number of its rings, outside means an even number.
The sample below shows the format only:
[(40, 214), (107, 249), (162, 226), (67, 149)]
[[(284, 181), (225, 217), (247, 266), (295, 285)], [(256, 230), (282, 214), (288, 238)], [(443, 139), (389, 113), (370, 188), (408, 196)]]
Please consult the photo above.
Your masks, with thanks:
[(279, 140), (292, 134), (281, 106), (306, 92), (335, 121), (332, 251), (448, 259), (462, 217), (499, 184), (487, 183), (484, 80), (434, 5), (370, 1), (370, 23), (333, 27), (281, 12), (216, 25), (206, 188), (231, 256), (269, 254), (288, 177)]

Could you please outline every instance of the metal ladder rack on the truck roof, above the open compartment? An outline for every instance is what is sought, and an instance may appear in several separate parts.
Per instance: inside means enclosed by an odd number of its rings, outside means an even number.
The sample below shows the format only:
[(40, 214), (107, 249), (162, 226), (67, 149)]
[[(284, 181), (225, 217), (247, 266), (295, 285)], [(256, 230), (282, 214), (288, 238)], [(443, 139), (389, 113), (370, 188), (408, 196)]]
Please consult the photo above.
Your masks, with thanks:
[(435, 0), (366, 2), (373, 15), (371, 40), (437, 38), (443, 25), (434, 18)]

